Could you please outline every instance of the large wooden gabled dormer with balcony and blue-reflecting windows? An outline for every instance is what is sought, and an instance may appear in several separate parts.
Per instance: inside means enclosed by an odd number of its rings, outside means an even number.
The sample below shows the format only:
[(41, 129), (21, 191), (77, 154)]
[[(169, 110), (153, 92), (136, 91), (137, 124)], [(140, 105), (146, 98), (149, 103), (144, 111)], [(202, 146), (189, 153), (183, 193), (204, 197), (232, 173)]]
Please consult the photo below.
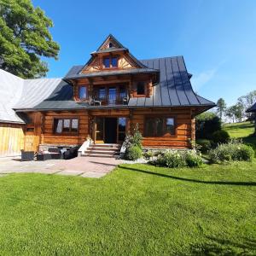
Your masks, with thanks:
[(116, 98), (115, 104), (121, 104), (122, 98), (126, 98), (127, 103), (127, 98), (152, 96), (153, 86), (159, 82), (159, 69), (138, 61), (112, 35), (90, 55), (79, 73), (66, 77), (73, 84), (75, 101), (92, 100), (103, 105)]

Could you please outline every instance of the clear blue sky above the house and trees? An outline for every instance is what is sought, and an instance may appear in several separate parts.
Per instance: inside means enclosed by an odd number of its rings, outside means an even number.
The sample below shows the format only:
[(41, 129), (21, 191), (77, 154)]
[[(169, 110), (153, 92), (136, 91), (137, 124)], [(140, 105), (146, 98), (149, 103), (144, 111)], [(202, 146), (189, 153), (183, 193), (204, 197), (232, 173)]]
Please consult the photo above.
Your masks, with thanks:
[(192, 86), (228, 105), (256, 90), (256, 0), (33, 0), (61, 51), (49, 78), (82, 65), (112, 33), (137, 59), (183, 55)]

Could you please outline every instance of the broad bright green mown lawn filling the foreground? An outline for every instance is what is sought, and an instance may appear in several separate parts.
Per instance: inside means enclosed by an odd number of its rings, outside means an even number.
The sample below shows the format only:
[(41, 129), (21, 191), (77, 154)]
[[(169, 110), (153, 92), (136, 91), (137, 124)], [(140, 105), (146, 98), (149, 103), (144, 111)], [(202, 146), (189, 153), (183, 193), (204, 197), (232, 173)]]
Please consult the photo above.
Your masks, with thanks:
[(256, 161), (0, 177), (1, 255), (255, 255)]

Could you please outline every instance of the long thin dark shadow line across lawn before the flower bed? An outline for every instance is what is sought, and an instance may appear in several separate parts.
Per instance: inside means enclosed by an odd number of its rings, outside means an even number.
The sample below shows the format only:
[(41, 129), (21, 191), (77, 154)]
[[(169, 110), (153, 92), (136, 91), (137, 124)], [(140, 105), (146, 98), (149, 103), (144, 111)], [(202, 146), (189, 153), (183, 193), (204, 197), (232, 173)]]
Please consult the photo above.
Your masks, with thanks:
[(218, 185), (236, 185), (236, 186), (256, 186), (256, 182), (232, 182), (232, 181), (204, 181), (199, 179), (193, 179), (193, 178), (187, 178), (187, 177), (177, 177), (172, 175), (167, 175), (163, 173), (158, 172), (149, 172), (137, 168), (132, 167), (125, 167), (125, 166), (119, 166), (119, 168), (129, 170), (132, 172), (143, 172), (150, 175), (160, 176), (160, 177), (169, 177), (175, 180), (185, 181), (185, 182), (192, 182), (192, 183), (204, 183), (204, 184), (218, 184)]

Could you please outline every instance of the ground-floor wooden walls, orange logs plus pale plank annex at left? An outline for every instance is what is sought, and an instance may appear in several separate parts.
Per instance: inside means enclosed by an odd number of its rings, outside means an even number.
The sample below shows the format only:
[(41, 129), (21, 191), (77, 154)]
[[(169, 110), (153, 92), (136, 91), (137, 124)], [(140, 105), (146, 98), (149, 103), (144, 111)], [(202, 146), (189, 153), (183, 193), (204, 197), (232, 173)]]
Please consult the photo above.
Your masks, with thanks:
[[(20, 149), (37, 152), (39, 144), (79, 145), (86, 137), (91, 137), (91, 124), (96, 116), (126, 117), (127, 126), (138, 124), (144, 134), (146, 116), (174, 117), (176, 135), (163, 137), (144, 137), (143, 146), (148, 148), (190, 148), (190, 139), (195, 139), (195, 119), (189, 108), (137, 108), (137, 109), (94, 109), (79, 111), (49, 111), (45, 113), (28, 113), (30, 124), (12, 125), (0, 123), (0, 155), (20, 154)], [(78, 118), (77, 134), (58, 135), (53, 131), (55, 118)]]

